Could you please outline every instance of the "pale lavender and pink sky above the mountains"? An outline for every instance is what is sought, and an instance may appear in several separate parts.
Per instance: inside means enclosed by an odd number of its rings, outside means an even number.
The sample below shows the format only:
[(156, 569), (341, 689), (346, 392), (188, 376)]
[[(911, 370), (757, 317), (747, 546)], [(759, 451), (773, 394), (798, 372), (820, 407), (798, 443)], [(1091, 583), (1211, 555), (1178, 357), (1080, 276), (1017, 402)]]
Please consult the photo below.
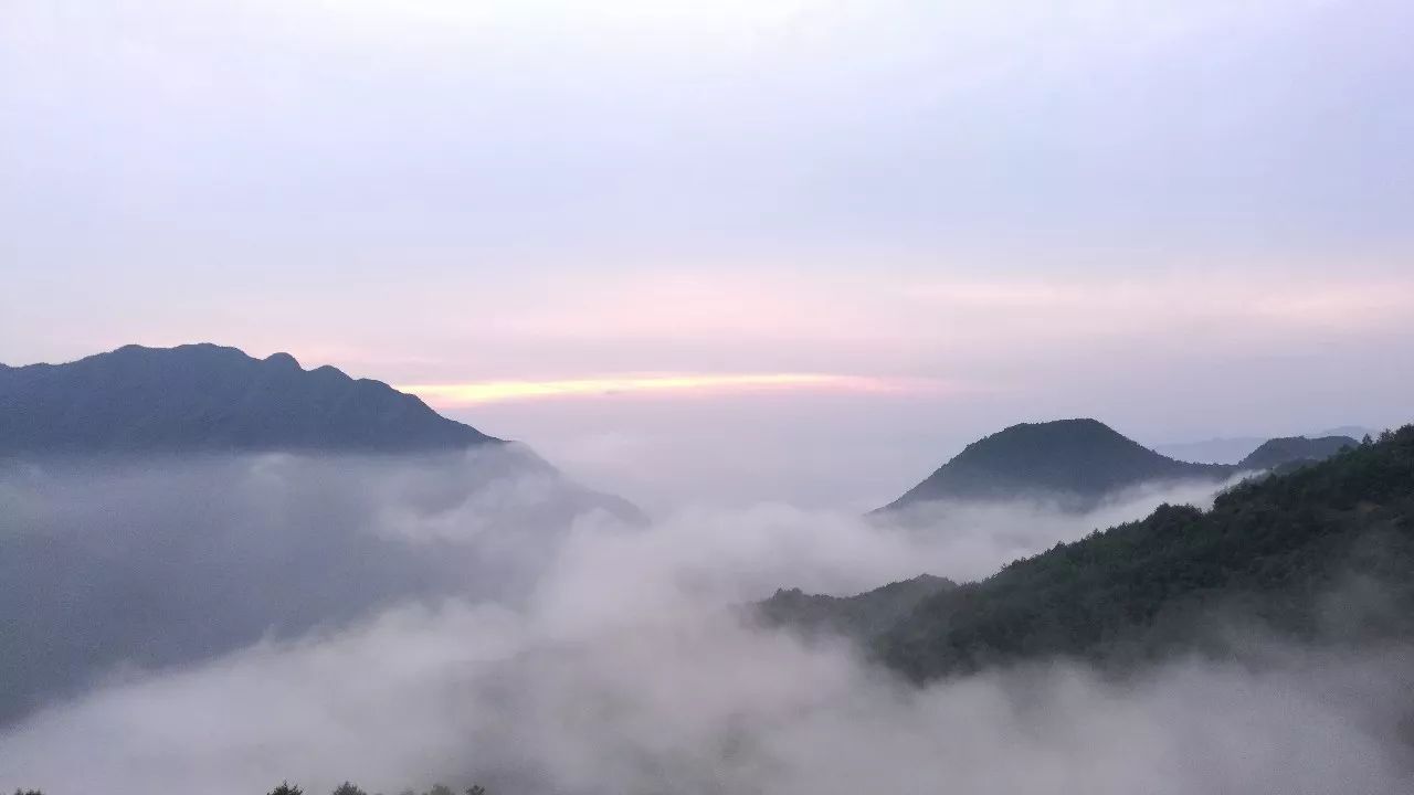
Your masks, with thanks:
[(1408, 422), (1398, 0), (0, 0), (0, 361), (294, 354), (648, 506)]

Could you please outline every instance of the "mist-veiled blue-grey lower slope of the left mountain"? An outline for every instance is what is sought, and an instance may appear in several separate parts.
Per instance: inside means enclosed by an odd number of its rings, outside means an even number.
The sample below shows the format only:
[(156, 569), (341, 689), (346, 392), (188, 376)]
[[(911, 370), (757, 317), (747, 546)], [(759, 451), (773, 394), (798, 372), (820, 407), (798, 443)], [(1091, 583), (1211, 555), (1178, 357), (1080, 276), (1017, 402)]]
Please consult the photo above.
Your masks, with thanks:
[(0, 464), (0, 723), (390, 604), (523, 598), (573, 523), (633, 518), (510, 446)]

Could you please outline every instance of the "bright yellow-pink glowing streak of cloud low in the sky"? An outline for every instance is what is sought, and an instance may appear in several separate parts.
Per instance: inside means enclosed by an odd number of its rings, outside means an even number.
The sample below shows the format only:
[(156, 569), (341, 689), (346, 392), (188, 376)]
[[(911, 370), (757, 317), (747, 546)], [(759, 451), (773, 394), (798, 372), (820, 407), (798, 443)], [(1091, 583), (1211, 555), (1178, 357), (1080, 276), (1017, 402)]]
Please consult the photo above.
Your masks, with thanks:
[(436, 406), (472, 406), (508, 400), (584, 398), (602, 395), (723, 392), (904, 392), (937, 383), (829, 373), (638, 373), (561, 381), (478, 381), (468, 383), (411, 383), (397, 389)]

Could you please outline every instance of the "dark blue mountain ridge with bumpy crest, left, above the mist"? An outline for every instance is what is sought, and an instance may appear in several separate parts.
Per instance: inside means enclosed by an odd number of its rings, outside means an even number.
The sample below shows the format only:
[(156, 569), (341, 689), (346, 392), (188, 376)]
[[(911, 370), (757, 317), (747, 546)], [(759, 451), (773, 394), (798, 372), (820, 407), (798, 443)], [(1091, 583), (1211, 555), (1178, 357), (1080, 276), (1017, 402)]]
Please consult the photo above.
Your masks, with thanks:
[(0, 455), (230, 450), (406, 453), (499, 443), (413, 395), (211, 344), (127, 345), (0, 368)]

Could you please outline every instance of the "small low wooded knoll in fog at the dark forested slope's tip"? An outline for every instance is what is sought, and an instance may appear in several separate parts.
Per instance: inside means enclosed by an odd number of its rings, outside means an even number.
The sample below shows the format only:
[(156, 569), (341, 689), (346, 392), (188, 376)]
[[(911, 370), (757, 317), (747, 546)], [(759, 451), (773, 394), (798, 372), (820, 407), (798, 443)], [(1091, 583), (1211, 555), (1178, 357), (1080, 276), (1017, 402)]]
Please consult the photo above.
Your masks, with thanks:
[(956, 587), (952, 580), (919, 574), (851, 597), (782, 588), (754, 604), (752, 613), (769, 627), (790, 627), (807, 635), (831, 632), (867, 639), (892, 627), (925, 598)]

